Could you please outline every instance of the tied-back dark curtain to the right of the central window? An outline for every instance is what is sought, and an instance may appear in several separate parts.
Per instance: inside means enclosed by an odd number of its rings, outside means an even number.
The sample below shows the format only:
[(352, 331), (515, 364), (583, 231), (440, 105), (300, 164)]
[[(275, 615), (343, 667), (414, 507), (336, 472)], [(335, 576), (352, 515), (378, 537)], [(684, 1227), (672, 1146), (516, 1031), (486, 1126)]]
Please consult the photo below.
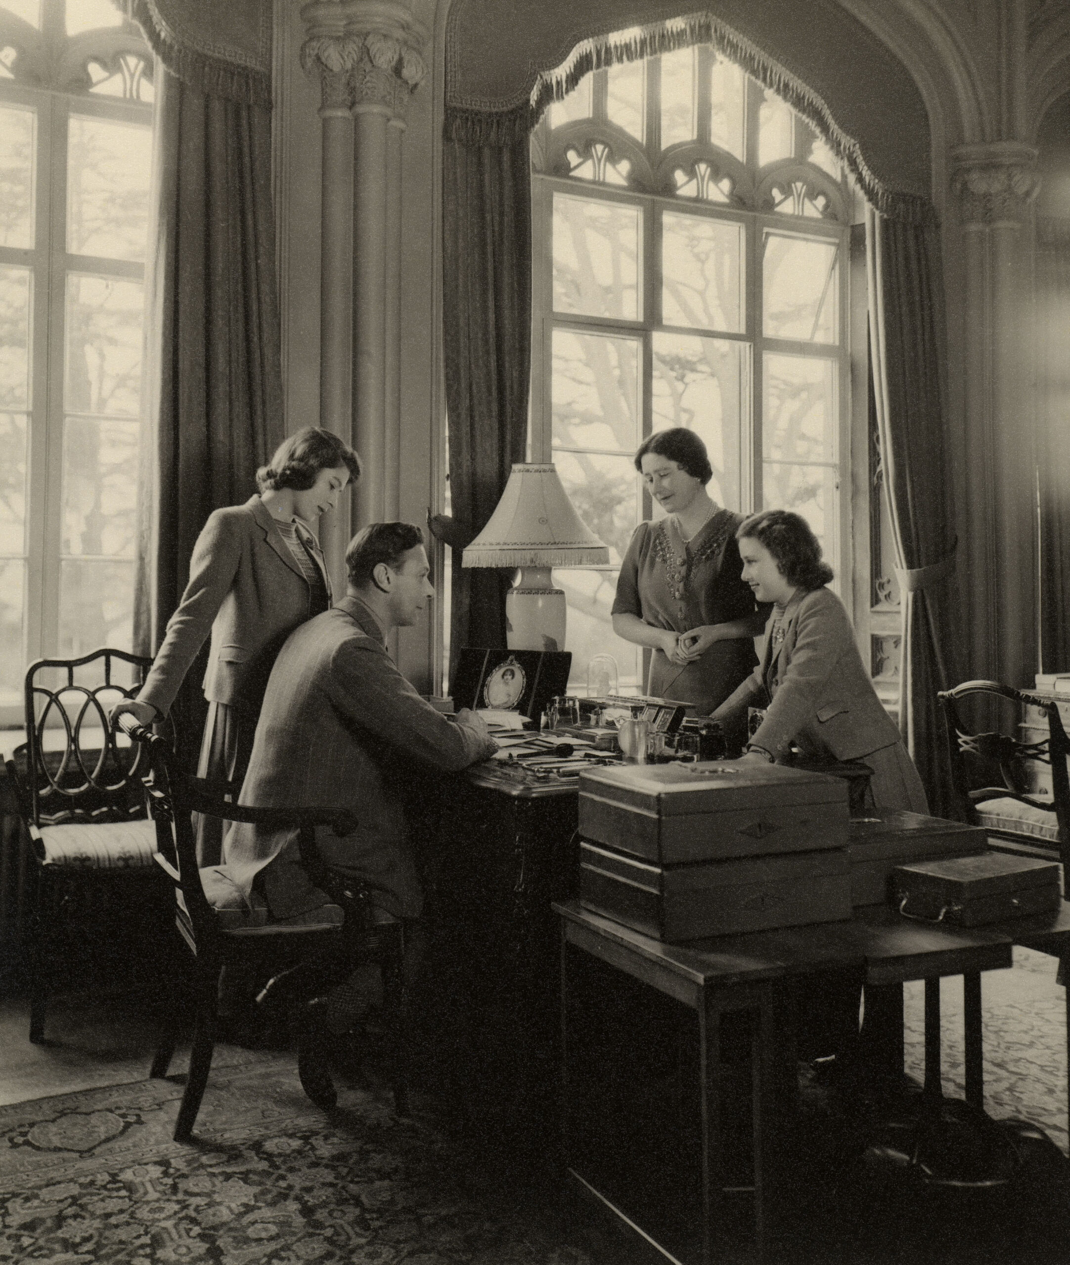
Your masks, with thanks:
[(895, 220), (867, 207), (866, 271), (870, 363), (904, 607), (899, 722), (931, 811), (957, 816), (936, 697), (960, 679), (962, 638), (935, 215)]

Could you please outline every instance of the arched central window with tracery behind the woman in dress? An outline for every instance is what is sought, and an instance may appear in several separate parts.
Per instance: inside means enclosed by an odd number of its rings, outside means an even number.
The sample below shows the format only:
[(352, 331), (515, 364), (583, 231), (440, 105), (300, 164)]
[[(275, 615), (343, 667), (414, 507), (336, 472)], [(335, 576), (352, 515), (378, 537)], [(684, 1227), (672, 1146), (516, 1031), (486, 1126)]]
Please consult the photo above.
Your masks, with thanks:
[(532, 453), (613, 559), (557, 573), (574, 679), (610, 653), (641, 686), (609, 610), (655, 512), (632, 466), (652, 430), (695, 430), (714, 500), (799, 511), (850, 573), (855, 190), (807, 120), (709, 46), (588, 73), (536, 128), (532, 172)]

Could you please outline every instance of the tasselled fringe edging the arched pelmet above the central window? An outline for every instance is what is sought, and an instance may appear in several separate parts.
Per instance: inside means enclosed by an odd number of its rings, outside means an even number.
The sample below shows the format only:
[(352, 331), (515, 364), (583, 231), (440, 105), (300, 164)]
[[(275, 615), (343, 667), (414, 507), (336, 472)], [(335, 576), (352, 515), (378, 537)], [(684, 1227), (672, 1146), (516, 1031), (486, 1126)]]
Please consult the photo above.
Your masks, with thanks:
[(923, 224), (932, 216), (928, 199), (890, 190), (881, 183), (866, 163), (859, 143), (836, 123), (832, 111), (813, 89), (746, 35), (707, 11), (582, 40), (561, 66), (539, 73), (527, 105), (485, 113), (447, 106), (446, 139), (463, 145), (513, 144), (534, 128), (553, 101), (562, 101), (590, 71), (642, 61), (655, 53), (672, 53), (694, 44), (712, 44), (812, 123), (857, 180), (870, 204), (883, 215), (909, 224)]

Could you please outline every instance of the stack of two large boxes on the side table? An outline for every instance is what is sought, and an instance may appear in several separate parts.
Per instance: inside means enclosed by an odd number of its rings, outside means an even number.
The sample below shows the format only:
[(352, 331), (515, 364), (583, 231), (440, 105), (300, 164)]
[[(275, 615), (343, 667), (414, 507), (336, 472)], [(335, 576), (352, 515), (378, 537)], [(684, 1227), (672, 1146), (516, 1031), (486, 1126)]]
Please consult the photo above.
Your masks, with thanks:
[(776, 764), (580, 775), (580, 901), (670, 942), (851, 917), (847, 783)]

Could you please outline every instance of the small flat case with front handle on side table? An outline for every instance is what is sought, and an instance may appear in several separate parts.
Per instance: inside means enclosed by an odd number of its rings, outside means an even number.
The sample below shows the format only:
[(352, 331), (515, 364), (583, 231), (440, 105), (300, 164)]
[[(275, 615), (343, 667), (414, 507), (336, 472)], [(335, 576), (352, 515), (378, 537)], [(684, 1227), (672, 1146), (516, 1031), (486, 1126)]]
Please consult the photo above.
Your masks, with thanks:
[(1062, 899), (1055, 861), (1005, 853), (900, 865), (894, 884), (900, 913), (961, 927), (1057, 910)]

